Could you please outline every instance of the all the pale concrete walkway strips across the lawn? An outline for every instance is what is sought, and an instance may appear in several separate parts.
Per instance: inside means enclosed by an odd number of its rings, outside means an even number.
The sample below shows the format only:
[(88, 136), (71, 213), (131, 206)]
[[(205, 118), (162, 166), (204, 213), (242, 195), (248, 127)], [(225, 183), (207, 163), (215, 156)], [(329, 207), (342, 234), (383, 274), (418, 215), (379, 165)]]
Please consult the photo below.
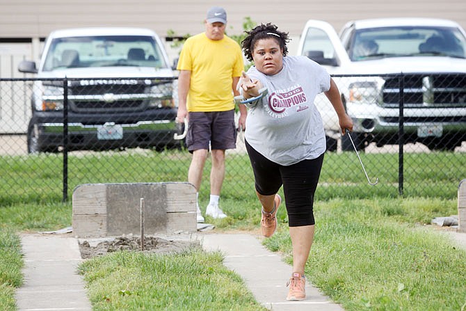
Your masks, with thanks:
[[(466, 233), (448, 232), (466, 248)], [(77, 274), (81, 262), (78, 240), (70, 234), (23, 234), (24, 286), (17, 289), (18, 311), (90, 311), (85, 284)], [(191, 237), (192, 239), (192, 237)], [(225, 266), (238, 273), (259, 303), (273, 311), (343, 309), (307, 284), (305, 301), (287, 301), (286, 282), (291, 266), (266, 250), (250, 234), (199, 233), (195, 239), (205, 250), (220, 250)]]

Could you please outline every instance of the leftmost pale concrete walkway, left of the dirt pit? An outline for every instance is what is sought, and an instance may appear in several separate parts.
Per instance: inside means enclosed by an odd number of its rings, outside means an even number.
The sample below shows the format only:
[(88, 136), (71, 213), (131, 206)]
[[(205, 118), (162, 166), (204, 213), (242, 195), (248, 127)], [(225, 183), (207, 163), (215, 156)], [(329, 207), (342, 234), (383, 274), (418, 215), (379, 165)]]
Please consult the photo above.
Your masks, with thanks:
[(18, 311), (91, 311), (77, 274), (81, 253), (67, 234), (23, 234), (24, 285), (17, 289)]

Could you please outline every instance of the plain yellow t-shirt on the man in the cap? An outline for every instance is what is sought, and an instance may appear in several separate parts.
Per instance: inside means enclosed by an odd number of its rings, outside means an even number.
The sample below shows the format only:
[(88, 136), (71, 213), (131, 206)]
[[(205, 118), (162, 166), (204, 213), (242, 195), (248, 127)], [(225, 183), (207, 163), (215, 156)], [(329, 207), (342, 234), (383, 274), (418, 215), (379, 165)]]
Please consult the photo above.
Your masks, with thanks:
[(238, 43), (224, 35), (210, 40), (205, 33), (184, 42), (177, 70), (190, 70), (191, 82), (186, 99), (188, 111), (228, 111), (234, 109), (233, 77), (244, 70)]

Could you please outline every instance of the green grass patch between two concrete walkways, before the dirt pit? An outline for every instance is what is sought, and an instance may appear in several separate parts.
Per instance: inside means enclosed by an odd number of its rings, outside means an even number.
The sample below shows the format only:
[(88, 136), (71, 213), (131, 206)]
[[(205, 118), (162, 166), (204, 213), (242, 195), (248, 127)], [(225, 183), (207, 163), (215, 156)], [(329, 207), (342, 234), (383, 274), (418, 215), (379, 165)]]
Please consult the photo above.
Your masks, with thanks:
[(266, 310), (220, 253), (199, 248), (175, 255), (122, 251), (79, 267), (93, 310)]

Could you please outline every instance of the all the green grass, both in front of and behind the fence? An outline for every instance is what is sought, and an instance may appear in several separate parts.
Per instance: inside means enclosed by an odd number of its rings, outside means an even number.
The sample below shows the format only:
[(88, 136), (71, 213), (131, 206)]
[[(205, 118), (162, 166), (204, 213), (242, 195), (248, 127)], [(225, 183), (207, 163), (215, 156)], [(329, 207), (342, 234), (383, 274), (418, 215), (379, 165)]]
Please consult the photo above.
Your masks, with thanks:
[[(79, 184), (185, 181), (191, 159), (178, 151), (97, 155), (70, 157), (69, 198)], [(250, 164), (243, 155), (229, 157), (220, 202), (229, 217), (206, 221), (218, 232), (258, 233), (260, 207)], [(379, 178), (377, 186), (367, 184), (353, 152), (326, 154), (307, 277), (348, 311), (461, 310), (466, 303), (465, 250), (453, 248), (439, 230), (425, 224), (457, 214), (466, 157), (405, 154), (405, 198), (398, 196), (396, 154), (361, 157), (369, 177)], [(209, 167), (207, 163), (200, 191), (202, 210), (209, 197)], [(61, 156), (1, 157), (0, 170), (0, 310), (13, 311), (13, 294), (22, 284), (17, 233), (70, 226), (72, 207), (61, 203)], [(278, 221), (279, 230), (266, 246), (290, 261), (285, 209), (278, 212)], [(201, 305), (207, 310), (259, 310), (221, 260), (218, 253), (198, 249), (179, 255), (121, 252), (87, 260), (80, 270), (95, 310), (177, 310), (177, 295), (189, 297), (184, 303), (191, 301), (191, 310)], [(165, 289), (166, 282), (174, 292), (163, 296), (158, 289)], [(186, 288), (195, 289), (192, 296)], [(234, 300), (225, 302), (225, 295)]]

